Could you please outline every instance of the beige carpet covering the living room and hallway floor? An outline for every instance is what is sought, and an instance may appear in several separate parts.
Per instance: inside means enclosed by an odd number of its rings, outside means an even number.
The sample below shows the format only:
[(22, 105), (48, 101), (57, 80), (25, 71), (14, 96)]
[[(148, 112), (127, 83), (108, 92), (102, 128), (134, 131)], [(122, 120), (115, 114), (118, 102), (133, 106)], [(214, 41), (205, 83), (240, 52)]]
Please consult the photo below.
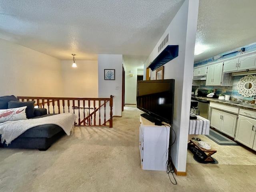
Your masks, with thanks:
[(256, 166), (187, 163), (173, 185), (141, 170), (140, 111), (125, 107), (113, 128), (76, 127), (47, 151), (0, 148), (0, 192), (254, 191)]

